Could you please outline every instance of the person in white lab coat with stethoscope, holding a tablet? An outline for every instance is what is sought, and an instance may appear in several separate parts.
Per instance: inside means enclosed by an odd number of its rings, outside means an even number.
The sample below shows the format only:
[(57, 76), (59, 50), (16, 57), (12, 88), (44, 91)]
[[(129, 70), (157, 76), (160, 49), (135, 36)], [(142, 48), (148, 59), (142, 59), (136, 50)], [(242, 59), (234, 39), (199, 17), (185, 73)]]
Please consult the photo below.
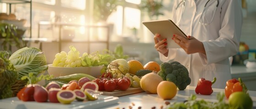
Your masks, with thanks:
[(172, 20), (190, 40), (170, 36), (181, 48), (168, 49), (167, 40), (155, 35), (160, 60), (183, 64), (190, 73), (190, 86), (196, 86), (200, 78), (216, 77), (212, 87), (224, 89), (231, 79), (229, 57), (239, 51), (241, 0), (174, 0)]

